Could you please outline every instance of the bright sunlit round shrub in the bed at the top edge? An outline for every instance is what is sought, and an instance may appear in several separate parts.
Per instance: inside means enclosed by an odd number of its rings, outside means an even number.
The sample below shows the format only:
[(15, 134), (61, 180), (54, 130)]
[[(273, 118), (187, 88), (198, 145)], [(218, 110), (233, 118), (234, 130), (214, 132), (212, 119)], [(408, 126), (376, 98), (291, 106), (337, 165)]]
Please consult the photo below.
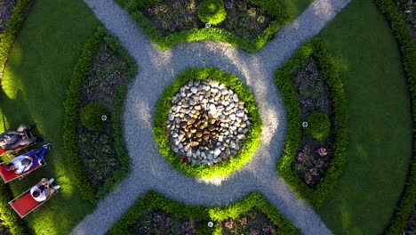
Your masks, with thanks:
[(227, 12), (220, 0), (204, 0), (198, 5), (198, 17), (204, 23), (217, 25), (226, 19)]

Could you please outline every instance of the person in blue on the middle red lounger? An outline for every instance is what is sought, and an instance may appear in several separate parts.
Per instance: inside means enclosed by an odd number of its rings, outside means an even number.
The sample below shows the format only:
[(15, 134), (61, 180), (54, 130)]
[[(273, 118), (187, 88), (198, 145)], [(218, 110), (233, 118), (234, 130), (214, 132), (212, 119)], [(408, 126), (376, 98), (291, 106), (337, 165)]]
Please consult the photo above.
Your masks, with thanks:
[(51, 149), (51, 143), (45, 144), (43, 148), (31, 150), (16, 158), (12, 158), (11, 162), (6, 165), (6, 171), (14, 171), (15, 174), (22, 174), (30, 167), (36, 165), (44, 159), (46, 150)]

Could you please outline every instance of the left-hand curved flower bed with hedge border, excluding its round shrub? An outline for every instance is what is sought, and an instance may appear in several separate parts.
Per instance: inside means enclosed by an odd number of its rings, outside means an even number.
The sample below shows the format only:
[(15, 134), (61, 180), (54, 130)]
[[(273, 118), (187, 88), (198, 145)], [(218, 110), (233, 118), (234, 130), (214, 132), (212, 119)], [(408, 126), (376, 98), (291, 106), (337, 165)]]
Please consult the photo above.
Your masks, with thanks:
[[(130, 56), (104, 28), (85, 44), (76, 64), (65, 102), (64, 151), (76, 180), (82, 182), (77, 185), (84, 199), (102, 198), (128, 174), (121, 115), (126, 85), (136, 70)], [(102, 129), (89, 130), (81, 125), (79, 109), (97, 101), (110, 115)]]

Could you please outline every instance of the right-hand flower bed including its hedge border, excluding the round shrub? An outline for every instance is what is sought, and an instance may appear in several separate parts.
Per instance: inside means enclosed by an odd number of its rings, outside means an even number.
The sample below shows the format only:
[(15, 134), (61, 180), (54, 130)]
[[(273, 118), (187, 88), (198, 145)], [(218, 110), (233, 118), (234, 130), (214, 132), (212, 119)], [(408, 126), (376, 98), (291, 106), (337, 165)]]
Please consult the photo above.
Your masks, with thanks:
[[(308, 58), (315, 61), (308, 61)], [(316, 65), (308, 64), (309, 62), (316, 63)], [(300, 70), (302, 64), (305, 69)], [(306, 68), (310, 70), (308, 71), (309, 76), (312, 74), (313, 77), (317, 76), (316, 70), (313, 68), (320, 69), (319, 77), (322, 78), (316, 80), (315, 86), (321, 91), (319, 93), (303, 91), (302, 96), (298, 96), (300, 93), (296, 91), (292, 77), (301, 75), (305, 79), (305, 74), (301, 71), (307, 71)], [(277, 165), (277, 172), (301, 198), (306, 199), (313, 207), (320, 207), (338, 180), (345, 163), (348, 144), (347, 101), (337, 68), (324, 45), (313, 40), (302, 46), (291, 59), (284, 63), (281, 69), (276, 71), (275, 81), (284, 99), (288, 120), (284, 152)], [(322, 84), (319, 85), (323, 81), (328, 85), (328, 89), (324, 88)], [(296, 80), (294, 82), (296, 84)], [(300, 88), (300, 84), (297, 85)], [(329, 98), (324, 98), (325, 94)], [(309, 95), (315, 95), (315, 98), (314, 96), (309, 97)], [(317, 106), (319, 109), (314, 108), (312, 101), (320, 103)], [(333, 112), (329, 109), (331, 103)], [(312, 111), (316, 110), (330, 114), (332, 133), (330, 132), (327, 138), (329, 138), (328, 143), (331, 144), (331, 147), (328, 147), (329, 145), (325, 141), (311, 139), (303, 132), (305, 127), (302, 127), (302, 118), (307, 118)], [(331, 156), (331, 160), (326, 161), (328, 155)], [(302, 167), (309, 170), (310, 176), (306, 172), (299, 174)], [(310, 186), (306, 182), (309, 182)]]

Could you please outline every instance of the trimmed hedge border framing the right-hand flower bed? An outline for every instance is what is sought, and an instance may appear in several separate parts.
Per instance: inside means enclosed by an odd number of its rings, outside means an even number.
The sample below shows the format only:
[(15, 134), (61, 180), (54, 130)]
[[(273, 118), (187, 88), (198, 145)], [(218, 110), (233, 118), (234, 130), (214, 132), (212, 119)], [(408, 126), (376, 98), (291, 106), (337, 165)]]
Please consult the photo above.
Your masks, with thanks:
[[(316, 185), (316, 189), (309, 188), (302, 182), (293, 170), (298, 150), (300, 150), (300, 107), (294, 87), (291, 82), (291, 75), (300, 63), (313, 57), (318, 62), (323, 77), (331, 91), (331, 99), (334, 110), (334, 130), (335, 137), (333, 142), (333, 158), (328, 165), (326, 174)], [(281, 69), (275, 74), (276, 85), (284, 99), (287, 112), (287, 136), (284, 142), (283, 156), (277, 164), (277, 172), (284, 181), (287, 182), (298, 195), (307, 200), (312, 207), (320, 207), (326, 195), (332, 190), (337, 182), (342, 168), (345, 164), (347, 144), (348, 144), (348, 115), (347, 100), (337, 68), (332, 62), (332, 58), (327, 52), (326, 47), (317, 39), (312, 40), (307, 45), (303, 45), (291, 59), (284, 63)]]

